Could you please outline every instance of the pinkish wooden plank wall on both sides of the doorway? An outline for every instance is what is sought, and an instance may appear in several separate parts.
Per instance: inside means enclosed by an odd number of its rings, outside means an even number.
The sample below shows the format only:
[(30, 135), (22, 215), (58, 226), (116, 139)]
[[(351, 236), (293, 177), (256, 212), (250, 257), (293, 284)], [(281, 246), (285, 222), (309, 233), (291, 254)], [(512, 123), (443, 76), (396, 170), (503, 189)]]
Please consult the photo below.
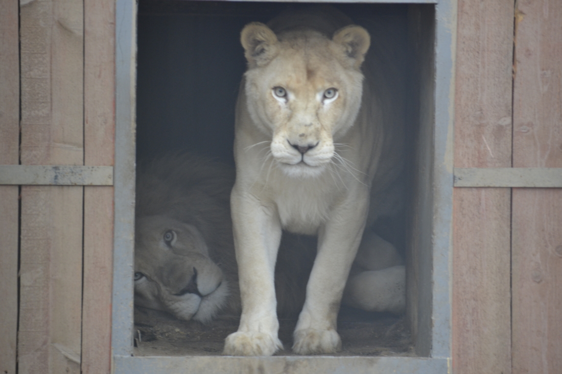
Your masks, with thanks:
[[(455, 167), (562, 167), (562, 2), (457, 5)], [(0, 0), (0, 164), (113, 165), (114, 33), (112, 0)], [(112, 199), (0, 186), (1, 373), (110, 372)], [(561, 282), (560, 189), (455, 189), (455, 373), (558, 373)]]

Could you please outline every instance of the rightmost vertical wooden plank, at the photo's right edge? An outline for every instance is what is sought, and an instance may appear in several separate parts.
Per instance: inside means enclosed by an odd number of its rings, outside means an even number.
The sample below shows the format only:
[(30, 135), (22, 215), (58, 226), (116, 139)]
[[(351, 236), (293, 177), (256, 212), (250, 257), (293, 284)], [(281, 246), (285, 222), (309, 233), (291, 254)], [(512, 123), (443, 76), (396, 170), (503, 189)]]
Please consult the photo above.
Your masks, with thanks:
[[(562, 167), (562, 2), (518, 1), (513, 165)], [(513, 372), (562, 367), (562, 189), (513, 190)]]

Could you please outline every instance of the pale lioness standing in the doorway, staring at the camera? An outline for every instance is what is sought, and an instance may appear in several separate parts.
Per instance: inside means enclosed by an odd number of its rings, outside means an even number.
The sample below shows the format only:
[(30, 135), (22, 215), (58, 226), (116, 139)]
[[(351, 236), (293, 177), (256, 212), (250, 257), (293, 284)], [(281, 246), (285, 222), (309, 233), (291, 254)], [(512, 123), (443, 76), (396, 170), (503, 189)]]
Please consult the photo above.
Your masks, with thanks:
[[(384, 67), (367, 62), (370, 37), (336, 11), (248, 24), (248, 70), (235, 125), (231, 195), (242, 315), (227, 355), (271, 355), (278, 339), (274, 269), (282, 230), (318, 235), (318, 253), (294, 331), (293, 352), (333, 353), (339, 305), (404, 308), (395, 248), (366, 222), (382, 215), (402, 169), (402, 123)], [(360, 247), (361, 241), (364, 243)], [(386, 262), (386, 260), (389, 260)]]

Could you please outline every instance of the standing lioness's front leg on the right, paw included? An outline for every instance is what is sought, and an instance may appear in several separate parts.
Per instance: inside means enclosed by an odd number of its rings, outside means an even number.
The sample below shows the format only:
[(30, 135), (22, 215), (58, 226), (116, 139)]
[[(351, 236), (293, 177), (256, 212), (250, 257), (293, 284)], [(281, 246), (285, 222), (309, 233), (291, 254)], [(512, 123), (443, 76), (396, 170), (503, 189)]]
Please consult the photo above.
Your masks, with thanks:
[(318, 254), (306, 300), (294, 330), (293, 352), (335, 353), (341, 349), (337, 316), (343, 289), (365, 225), (361, 207), (338, 209), (320, 230)]

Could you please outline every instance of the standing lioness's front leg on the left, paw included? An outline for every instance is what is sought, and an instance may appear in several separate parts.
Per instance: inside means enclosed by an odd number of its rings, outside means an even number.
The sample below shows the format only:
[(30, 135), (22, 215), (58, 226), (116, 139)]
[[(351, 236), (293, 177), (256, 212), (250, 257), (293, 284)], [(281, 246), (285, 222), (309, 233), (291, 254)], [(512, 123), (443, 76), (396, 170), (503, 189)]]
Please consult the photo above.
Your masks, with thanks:
[(274, 286), (281, 227), (272, 211), (236, 189), (231, 206), (242, 316), (238, 331), (226, 337), (223, 354), (272, 355), (283, 348)]

